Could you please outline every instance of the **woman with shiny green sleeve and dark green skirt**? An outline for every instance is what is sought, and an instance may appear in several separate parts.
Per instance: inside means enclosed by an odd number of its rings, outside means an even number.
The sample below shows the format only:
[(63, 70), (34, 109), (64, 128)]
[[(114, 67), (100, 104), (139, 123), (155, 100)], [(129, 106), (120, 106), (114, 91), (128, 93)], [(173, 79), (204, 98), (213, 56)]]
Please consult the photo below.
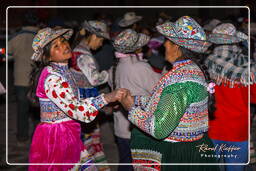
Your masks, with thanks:
[[(165, 59), (173, 68), (160, 79), (150, 96), (127, 95), (121, 100), (129, 110), (128, 119), (137, 126), (131, 138), (133, 162), (138, 164), (134, 168), (216, 171), (218, 166), (160, 165), (216, 163), (216, 159), (214, 151), (205, 150), (213, 147), (206, 135), (208, 102), (212, 98), (207, 91), (210, 82), (205, 70), (192, 58), (194, 52), (204, 52), (210, 43), (201, 26), (188, 16), (156, 28), (167, 38)], [(208, 89), (213, 92), (212, 87)]]

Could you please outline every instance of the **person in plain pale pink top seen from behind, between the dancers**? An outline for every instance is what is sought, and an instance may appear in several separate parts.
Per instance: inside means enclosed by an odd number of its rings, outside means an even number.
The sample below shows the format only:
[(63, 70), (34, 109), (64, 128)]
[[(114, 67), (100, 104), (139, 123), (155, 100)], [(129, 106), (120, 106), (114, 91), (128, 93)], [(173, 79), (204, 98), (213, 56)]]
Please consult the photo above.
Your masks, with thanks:
[[(142, 47), (149, 42), (149, 36), (126, 29), (115, 37), (113, 46), (116, 50), (117, 63), (109, 74), (109, 85), (113, 90), (126, 88), (132, 95), (149, 95), (154, 85), (161, 78), (151, 66), (143, 60)], [(128, 112), (122, 107), (115, 109), (114, 134), (119, 151), (120, 163), (131, 163), (131, 123), (127, 119)], [(118, 171), (132, 171), (131, 165), (119, 165)]]

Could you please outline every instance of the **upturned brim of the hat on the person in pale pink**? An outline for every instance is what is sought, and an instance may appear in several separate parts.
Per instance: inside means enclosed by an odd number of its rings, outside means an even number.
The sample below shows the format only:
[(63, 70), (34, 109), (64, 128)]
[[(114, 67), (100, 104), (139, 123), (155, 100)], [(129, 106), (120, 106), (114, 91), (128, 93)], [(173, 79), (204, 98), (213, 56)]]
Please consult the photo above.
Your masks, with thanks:
[(133, 46), (129, 48), (128, 47), (123, 48), (122, 46), (114, 44), (115, 49), (121, 53), (132, 53), (132, 52), (135, 52), (137, 49), (140, 49), (141, 47), (145, 46), (149, 42), (150, 37), (141, 33), (139, 33), (138, 35), (139, 35), (138, 40)]

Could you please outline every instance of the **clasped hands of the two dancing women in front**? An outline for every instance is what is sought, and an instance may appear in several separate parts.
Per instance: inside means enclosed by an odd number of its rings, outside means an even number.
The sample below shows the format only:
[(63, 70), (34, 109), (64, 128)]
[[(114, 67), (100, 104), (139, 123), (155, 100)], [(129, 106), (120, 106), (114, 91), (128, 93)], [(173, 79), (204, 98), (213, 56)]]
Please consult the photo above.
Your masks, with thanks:
[(119, 101), (126, 110), (130, 110), (134, 104), (134, 97), (131, 92), (125, 88), (116, 89), (104, 95), (108, 103)]

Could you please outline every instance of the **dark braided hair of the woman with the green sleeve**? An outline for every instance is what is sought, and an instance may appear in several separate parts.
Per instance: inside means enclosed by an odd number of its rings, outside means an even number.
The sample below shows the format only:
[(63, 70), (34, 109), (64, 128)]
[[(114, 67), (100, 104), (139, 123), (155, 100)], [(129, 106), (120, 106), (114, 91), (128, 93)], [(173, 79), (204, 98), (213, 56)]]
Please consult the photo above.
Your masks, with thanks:
[[(203, 72), (206, 82), (208, 84), (213, 82), (211, 80), (211, 78), (210, 78), (210, 74), (207, 71), (207, 67), (204, 65), (205, 56), (203, 54), (199, 54), (199, 53), (193, 52), (193, 51), (191, 51), (189, 49), (186, 49), (184, 47), (181, 47), (181, 46), (179, 46), (179, 49), (182, 52), (182, 57), (181, 57), (182, 59), (190, 59), (190, 60), (192, 60), (201, 69), (201, 71)], [(208, 99), (209, 119), (213, 120), (215, 118), (214, 117), (214, 112), (216, 110), (216, 107), (215, 107), (215, 96), (214, 96), (214, 94), (211, 94), (211, 93), (208, 92), (208, 97), (209, 97), (209, 99)]]

